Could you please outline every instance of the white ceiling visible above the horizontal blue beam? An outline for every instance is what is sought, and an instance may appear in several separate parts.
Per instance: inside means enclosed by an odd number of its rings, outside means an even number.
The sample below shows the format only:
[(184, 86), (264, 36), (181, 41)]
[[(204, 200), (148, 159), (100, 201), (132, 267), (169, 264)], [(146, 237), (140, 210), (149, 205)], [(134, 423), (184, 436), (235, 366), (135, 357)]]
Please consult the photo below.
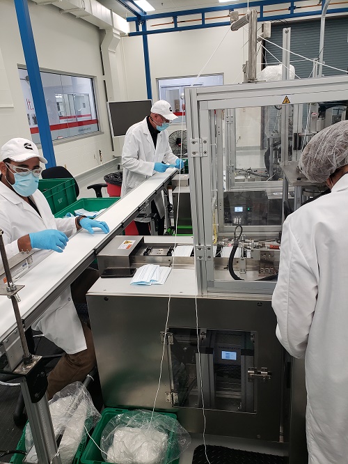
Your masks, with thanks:
[[(132, 13), (122, 6), (117, 0), (99, 0), (107, 8), (113, 10), (122, 17), (134, 16)], [(191, 10), (197, 8), (207, 8), (208, 6), (223, 6), (226, 3), (220, 3), (219, 0), (148, 0), (150, 5), (155, 8), (155, 11), (150, 11), (149, 15), (156, 13), (168, 13), (171, 11)], [(230, 2), (232, 3), (232, 1)]]

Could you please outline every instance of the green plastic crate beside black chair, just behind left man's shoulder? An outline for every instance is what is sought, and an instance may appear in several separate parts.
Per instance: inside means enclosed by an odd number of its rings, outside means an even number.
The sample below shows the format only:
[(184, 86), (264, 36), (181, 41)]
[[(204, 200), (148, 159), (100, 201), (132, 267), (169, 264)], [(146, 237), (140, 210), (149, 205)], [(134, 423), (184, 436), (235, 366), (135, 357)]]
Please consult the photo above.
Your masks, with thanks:
[(75, 180), (73, 178), (40, 179), (39, 190), (47, 199), (53, 214), (76, 201)]

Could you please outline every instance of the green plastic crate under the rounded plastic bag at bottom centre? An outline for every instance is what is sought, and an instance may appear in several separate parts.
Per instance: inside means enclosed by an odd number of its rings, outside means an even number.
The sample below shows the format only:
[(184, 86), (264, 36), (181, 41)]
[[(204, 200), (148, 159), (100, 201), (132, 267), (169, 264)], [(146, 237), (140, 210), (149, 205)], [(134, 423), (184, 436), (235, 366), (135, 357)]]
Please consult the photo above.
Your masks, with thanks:
[[(109, 420), (111, 420), (116, 415), (122, 414), (122, 412), (127, 412), (127, 410), (117, 409), (117, 408), (105, 408), (104, 409), (104, 411), (102, 412), (102, 417), (100, 418), (100, 421), (95, 426), (94, 432), (92, 434), (92, 438), (98, 444), (98, 446), (100, 445), (100, 439), (102, 438), (102, 432), (104, 431), (106, 424), (109, 422)], [(171, 414), (170, 412), (159, 412), (159, 414), (163, 414), (163, 415), (173, 417), (174, 419), (176, 419), (176, 415)], [(88, 444), (80, 459), (80, 464), (104, 464), (105, 463), (104, 459), (102, 458), (102, 453), (100, 449), (95, 446), (95, 443), (93, 442), (93, 440), (88, 441)], [(171, 440), (171, 435), (169, 435), (169, 440)], [(175, 461), (172, 461), (171, 464), (179, 464), (179, 459), (175, 459)]]

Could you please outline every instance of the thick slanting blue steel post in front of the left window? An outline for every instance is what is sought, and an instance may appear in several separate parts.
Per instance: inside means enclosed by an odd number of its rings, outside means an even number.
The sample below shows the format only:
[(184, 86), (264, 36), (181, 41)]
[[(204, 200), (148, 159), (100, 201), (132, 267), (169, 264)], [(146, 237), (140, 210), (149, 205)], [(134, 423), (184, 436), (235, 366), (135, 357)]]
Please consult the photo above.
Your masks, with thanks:
[(45, 94), (42, 88), (33, 30), (31, 29), (28, 0), (15, 0), (15, 8), (17, 13), (19, 33), (22, 40), (24, 59), (26, 62), (26, 69), (29, 75), (31, 95), (33, 95), (35, 114), (38, 120), (42, 152), (48, 161), (46, 167), (53, 167), (56, 166), (56, 157), (54, 156), (54, 148), (51, 130), (49, 128)]

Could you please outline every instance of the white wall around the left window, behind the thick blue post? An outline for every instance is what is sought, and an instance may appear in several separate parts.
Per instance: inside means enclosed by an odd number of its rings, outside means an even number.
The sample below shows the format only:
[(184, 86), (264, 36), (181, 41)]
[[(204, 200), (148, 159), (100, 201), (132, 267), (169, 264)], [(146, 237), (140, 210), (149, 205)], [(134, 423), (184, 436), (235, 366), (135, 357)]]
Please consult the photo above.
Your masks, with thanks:
[[(0, 7), (0, 51), (8, 84), (1, 72), (0, 59), (0, 144), (12, 137), (31, 139), (26, 118), (24, 98), (19, 83), (17, 65), (25, 65), (22, 42), (19, 36), (17, 15), (13, 0), (1, 0)], [(56, 163), (64, 165), (72, 174), (87, 171), (100, 165), (102, 160), (113, 158), (109, 120), (102, 76), (100, 54), (100, 31), (93, 24), (78, 19), (70, 13), (61, 14), (55, 6), (38, 6), (29, 2), (29, 13), (33, 27), (39, 66), (46, 70), (76, 73), (95, 77), (96, 98), (101, 130), (104, 134), (76, 141), (65, 141), (54, 145)], [(3, 98), (8, 100), (8, 91), (13, 108), (3, 108)]]

